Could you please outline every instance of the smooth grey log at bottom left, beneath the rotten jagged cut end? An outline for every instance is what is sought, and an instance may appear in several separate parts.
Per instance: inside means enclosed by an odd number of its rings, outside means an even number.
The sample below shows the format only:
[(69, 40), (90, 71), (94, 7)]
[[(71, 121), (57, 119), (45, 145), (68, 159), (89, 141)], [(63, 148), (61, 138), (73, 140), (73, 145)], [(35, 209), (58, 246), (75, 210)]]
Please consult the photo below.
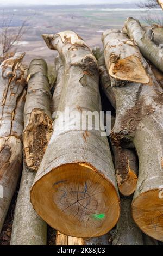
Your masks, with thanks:
[(46, 245), (47, 224), (37, 215), (30, 203), (30, 188), (35, 175), (35, 172), (23, 166), (10, 245)]

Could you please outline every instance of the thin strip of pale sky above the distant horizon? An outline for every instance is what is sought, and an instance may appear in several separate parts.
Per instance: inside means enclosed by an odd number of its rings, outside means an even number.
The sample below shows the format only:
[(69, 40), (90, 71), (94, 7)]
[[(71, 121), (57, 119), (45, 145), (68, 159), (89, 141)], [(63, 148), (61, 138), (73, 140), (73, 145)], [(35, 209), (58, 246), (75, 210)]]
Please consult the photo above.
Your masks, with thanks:
[(114, 4), (114, 3), (139, 3), (140, 0), (0, 0), (2, 5), (60, 5), (60, 4)]

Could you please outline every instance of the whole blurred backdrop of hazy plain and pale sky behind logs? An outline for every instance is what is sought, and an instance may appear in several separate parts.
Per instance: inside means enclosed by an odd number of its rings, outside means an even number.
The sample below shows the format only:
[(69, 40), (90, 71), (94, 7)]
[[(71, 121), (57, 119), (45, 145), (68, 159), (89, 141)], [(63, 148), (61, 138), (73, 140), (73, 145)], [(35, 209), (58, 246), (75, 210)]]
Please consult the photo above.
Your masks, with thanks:
[(102, 32), (121, 29), (129, 16), (147, 25), (163, 22), (156, 0), (0, 0), (0, 47), (6, 44), (4, 52), (25, 51), (24, 62), (42, 56), (51, 63), (56, 53), (41, 34), (69, 29), (90, 47), (102, 46)]

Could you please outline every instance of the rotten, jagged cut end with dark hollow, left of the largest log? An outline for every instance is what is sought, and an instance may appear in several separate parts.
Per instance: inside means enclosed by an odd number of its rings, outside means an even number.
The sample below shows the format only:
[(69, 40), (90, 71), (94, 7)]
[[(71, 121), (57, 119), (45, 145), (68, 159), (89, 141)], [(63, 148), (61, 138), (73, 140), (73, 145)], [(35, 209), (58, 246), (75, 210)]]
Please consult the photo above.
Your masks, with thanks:
[(33, 109), (23, 133), (24, 161), (29, 169), (37, 171), (39, 168), (51, 133), (52, 120), (40, 109)]

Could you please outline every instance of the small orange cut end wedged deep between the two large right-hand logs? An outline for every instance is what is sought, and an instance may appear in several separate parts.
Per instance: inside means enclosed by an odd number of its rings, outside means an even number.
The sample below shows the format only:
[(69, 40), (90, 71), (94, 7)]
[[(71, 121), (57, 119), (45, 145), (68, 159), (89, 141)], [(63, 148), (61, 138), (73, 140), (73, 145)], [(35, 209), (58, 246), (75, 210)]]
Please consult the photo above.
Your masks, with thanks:
[(116, 175), (116, 177), (118, 182), (118, 188), (123, 196), (130, 196), (134, 193), (137, 185), (137, 176), (133, 172), (133, 170), (129, 169), (127, 178), (123, 182), (121, 182), (121, 178), (118, 174)]

